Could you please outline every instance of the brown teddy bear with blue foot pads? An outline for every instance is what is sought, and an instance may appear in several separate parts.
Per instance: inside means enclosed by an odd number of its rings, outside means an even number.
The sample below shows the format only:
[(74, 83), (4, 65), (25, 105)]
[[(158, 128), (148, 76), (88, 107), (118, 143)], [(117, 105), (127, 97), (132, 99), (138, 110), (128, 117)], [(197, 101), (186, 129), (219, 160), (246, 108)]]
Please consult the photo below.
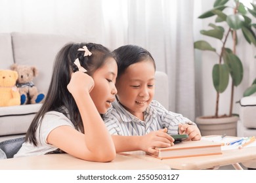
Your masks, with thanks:
[(11, 65), (11, 69), (18, 72), (16, 86), (19, 88), (21, 105), (42, 103), (45, 95), (39, 93), (32, 82), (33, 78), (37, 76), (37, 68), (14, 63)]

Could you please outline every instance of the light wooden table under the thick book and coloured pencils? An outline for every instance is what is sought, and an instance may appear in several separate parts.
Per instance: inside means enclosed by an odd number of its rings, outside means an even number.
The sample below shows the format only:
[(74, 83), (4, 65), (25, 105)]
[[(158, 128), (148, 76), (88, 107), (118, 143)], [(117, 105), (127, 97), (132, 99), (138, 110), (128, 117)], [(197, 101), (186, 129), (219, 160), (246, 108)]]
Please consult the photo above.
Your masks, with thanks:
[(188, 158), (158, 159), (145, 152), (123, 152), (121, 155), (131, 158), (144, 159), (151, 162), (169, 165), (171, 169), (197, 170), (218, 169), (224, 165), (233, 165), (235, 169), (242, 169), (239, 163), (256, 161), (256, 147), (224, 150), (223, 154), (209, 156), (195, 156)]

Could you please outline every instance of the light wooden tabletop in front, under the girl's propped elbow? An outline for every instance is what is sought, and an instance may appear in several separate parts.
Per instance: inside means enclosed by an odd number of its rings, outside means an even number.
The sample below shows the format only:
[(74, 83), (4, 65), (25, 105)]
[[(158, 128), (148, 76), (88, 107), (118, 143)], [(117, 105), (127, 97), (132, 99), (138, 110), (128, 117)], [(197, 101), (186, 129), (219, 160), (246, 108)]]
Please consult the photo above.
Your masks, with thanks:
[(64, 169), (90, 169), (90, 170), (148, 170), (170, 169), (168, 165), (160, 162), (146, 161), (144, 159), (122, 156), (117, 154), (114, 161), (98, 163), (74, 158), (69, 154), (49, 154), (42, 156), (28, 156), (22, 158), (1, 159), (2, 170), (64, 170)]

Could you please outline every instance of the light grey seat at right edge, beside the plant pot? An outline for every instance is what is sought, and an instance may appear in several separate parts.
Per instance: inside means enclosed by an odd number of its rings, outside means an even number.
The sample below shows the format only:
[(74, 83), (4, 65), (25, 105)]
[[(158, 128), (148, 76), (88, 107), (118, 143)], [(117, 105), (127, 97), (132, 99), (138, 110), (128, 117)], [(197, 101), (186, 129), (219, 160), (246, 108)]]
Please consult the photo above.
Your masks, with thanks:
[(256, 96), (243, 97), (240, 100), (240, 120), (247, 128), (256, 129)]

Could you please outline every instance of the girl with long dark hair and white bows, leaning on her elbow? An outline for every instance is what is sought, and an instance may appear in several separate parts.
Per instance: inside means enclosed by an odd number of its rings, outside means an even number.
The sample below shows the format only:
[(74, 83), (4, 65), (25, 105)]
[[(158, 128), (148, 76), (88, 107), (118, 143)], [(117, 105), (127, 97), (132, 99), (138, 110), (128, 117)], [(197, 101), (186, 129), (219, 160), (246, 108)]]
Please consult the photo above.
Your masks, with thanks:
[(104, 46), (66, 44), (56, 56), (45, 103), (14, 157), (66, 152), (88, 161), (112, 161), (114, 143), (100, 114), (115, 99), (116, 76), (116, 60)]

